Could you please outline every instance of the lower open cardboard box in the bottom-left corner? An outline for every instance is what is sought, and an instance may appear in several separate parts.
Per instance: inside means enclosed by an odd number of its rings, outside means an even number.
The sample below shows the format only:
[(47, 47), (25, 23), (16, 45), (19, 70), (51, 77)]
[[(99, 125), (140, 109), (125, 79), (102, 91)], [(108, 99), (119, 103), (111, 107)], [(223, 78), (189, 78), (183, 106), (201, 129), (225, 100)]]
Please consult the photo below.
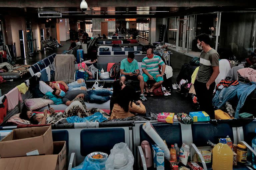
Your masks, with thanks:
[[(8, 170), (63, 170), (66, 166), (66, 141), (53, 142), (53, 155), (1, 158), (0, 167)], [(58, 152), (57, 154), (55, 154)]]

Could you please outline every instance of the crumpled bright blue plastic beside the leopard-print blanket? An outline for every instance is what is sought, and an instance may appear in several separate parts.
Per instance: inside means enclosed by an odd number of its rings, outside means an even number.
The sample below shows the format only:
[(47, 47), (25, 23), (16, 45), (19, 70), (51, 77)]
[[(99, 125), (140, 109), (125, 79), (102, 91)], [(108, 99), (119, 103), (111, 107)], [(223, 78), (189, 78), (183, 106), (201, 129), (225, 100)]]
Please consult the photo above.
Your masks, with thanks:
[(78, 116), (71, 116), (66, 118), (68, 123), (81, 123), (81, 122), (103, 122), (107, 120), (107, 118), (104, 118), (103, 115), (100, 112), (96, 112), (95, 114), (85, 117), (85, 118), (80, 118)]

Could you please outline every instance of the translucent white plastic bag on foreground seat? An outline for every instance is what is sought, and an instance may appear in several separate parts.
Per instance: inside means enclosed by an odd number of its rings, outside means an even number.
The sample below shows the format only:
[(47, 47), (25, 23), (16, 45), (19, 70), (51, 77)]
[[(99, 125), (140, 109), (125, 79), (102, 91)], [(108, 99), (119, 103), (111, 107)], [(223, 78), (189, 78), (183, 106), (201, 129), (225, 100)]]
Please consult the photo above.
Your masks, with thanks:
[(115, 144), (113, 149), (111, 149), (110, 155), (108, 156), (108, 160), (106, 161), (106, 164), (105, 164), (106, 170), (114, 170), (115, 162), (117, 161), (117, 160), (115, 161), (115, 159), (117, 159), (115, 155), (117, 154), (121, 155), (121, 157), (125, 159), (123, 160), (125, 162), (125, 165), (120, 167), (118, 170), (133, 170), (133, 163), (134, 163), (133, 154), (129, 149), (128, 145), (123, 142)]

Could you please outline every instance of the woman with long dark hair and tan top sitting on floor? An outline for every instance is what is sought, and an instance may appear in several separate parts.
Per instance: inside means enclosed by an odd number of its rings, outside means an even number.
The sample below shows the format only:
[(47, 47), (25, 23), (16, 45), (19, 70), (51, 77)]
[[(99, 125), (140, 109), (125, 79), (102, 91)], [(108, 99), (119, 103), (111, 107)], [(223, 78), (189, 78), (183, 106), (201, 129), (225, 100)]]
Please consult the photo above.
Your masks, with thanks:
[(119, 92), (118, 96), (114, 101), (114, 107), (112, 109), (110, 120), (124, 119), (135, 116), (132, 113), (146, 114), (146, 108), (142, 104), (142, 102), (140, 100), (135, 102), (134, 99), (134, 88), (132, 88), (131, 86), (125, 86), (123, 90)]

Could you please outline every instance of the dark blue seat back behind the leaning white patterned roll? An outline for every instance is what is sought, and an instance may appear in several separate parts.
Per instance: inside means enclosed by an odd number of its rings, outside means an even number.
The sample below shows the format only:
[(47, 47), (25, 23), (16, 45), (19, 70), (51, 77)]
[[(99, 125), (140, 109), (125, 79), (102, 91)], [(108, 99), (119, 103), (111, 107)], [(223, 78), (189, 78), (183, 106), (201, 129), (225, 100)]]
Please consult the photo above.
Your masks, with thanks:
[[(182, 145), (182, 136), (181, 136), (181, 126), (178, 122), (173, 124), (167, 123), (156, 123), (152, 124), (159, 136), (166, 141), (168, 148), (171, 148), (171, 145), (177, 143), (179, 147)], [(150, 145), (155, 142), (148, 136), (148, 134), (140, 126), (140, 143), (143, 140), (147, 140)]]

